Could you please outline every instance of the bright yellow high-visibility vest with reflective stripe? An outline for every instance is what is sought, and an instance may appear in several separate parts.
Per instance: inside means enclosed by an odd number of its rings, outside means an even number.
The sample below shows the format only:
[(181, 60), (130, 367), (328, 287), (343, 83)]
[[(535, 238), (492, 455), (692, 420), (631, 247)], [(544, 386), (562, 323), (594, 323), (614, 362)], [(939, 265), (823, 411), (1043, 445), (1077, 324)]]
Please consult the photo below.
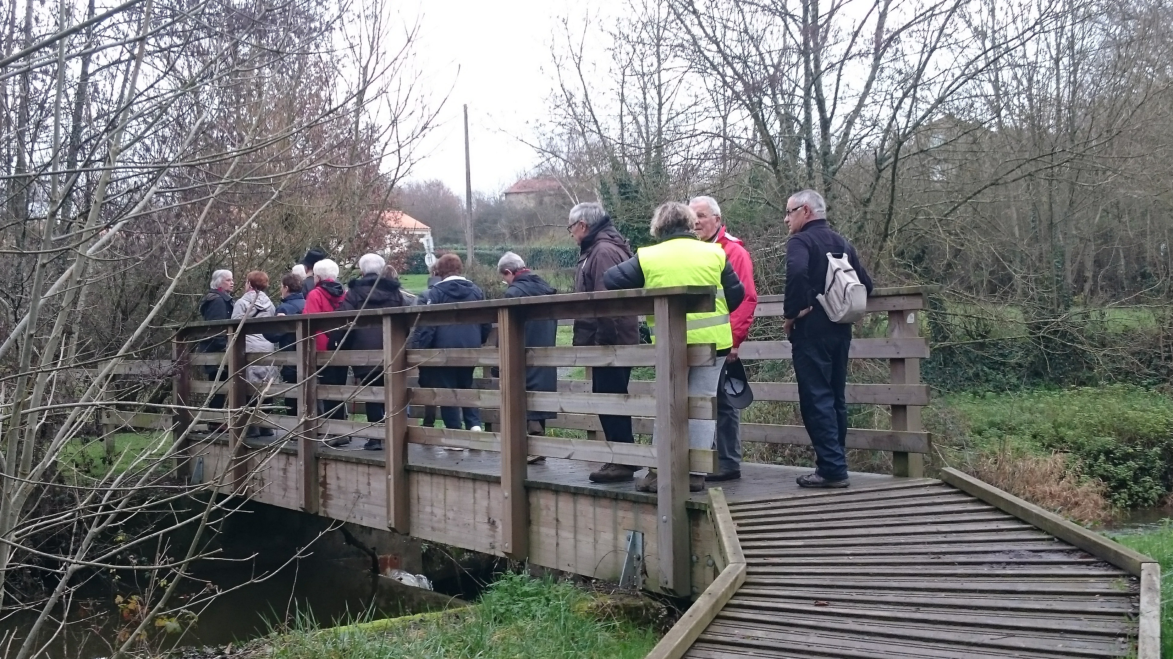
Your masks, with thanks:
[[(639, 266), (644, 271), (644, 287), (717, 286), (713, 311), (690, 313), (686, 319), (690, 344), (717, 344), (717, 349), (733, 347), (733, 326), (730, 308), (721, 288), (725, 270), (725, 250), (717, 244), (696, 238), (670, 238), (658, 245), (639, 247)], [(656, 342), (656, 319), (647, 317), (647, 328)]]

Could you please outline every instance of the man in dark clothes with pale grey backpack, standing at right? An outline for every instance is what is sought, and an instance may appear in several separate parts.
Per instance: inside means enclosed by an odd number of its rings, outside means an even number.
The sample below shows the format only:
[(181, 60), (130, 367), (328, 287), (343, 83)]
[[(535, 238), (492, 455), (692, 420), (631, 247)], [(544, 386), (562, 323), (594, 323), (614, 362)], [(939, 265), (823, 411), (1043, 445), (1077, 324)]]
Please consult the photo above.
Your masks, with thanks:
[(794, 355), (799, 409), (815, 453), (815, 471), (798, 478), (804, 488), (846, 488), (847, 353), (852, 326), (833, 322), (815, 299), (825, 293), (827, 253), (847, 253), (860, 283), (872, 294), (872, 278), (855, 247), (827, 225), (827, 203), (814, 190), (786, 202), (786, 298), (782, 328)]

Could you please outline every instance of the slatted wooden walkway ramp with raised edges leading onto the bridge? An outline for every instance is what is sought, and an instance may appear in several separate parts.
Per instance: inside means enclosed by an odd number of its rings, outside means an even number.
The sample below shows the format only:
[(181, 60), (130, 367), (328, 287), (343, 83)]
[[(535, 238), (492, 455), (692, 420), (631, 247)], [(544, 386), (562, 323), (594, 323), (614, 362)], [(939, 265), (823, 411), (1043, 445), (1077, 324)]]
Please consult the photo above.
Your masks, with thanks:
[(719, 498), (740, 576), (650, 659), (1159, 657), (1159, 592), (1107, 558), (1141, 573), (1151, 559), (1057, 517), (1094, 553), (936, 480)]

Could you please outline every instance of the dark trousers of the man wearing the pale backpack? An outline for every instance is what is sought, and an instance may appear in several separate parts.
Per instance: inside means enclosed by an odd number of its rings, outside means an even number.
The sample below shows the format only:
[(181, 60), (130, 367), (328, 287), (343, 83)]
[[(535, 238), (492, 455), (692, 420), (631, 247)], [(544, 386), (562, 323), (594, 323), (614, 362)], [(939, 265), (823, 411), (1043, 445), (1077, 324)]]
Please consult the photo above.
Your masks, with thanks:
[(795, 337), (794, 376), (802, 424), (814, 446), (816, 471), (828, 481), (847, 477), (847, 351), (852, 338)]

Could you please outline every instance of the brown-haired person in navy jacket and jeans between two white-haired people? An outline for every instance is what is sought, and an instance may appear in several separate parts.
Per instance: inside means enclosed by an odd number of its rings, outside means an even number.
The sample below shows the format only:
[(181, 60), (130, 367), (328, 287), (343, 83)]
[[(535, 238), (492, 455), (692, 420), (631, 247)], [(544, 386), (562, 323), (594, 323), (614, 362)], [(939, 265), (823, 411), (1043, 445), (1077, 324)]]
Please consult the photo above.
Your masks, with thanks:
[[(416, 304), (442, 305), (469, 303), (484, 299), (484, 292), (476, 284), (461, 277), (465, 264), (456, 254), (445, 254), (436, 261), (436, 277), (442, 279), (420, 293)], [(479, 348), (493, 331), (491, 322), (475, 325), (420, 325), (412, 332), (413, 348)], [(445, 389), (472, 389), (472, 366), (421, 366), (420, 386)], [(461, 417), (463, 416), (463, 426)], [(441, 407), (440, 417), (445, 428), (481, 429), (481, 410), (475, 407)]]

